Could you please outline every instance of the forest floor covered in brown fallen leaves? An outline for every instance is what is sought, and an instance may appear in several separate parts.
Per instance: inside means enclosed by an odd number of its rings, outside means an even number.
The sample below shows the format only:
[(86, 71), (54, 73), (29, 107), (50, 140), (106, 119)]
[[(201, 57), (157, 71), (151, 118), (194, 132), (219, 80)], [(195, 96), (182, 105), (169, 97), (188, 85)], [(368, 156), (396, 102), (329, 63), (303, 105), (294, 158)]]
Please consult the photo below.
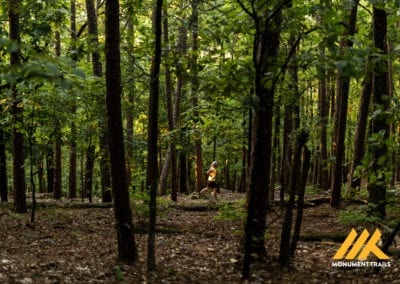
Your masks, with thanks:
[[(307, 198), (311, 197), (321, 196)], [(140, 261), (131, 266), (116, 258), (110, 207), (66, 206), (73, 203), (70, 201), (40, 206), (32, 225), (29, 212), (15, 214), (2, 205), (0, 283), (240, 283), (243, 223), (232, 208), (237, 207), (238, 200), (243, 204), (243, 199), (243, 195), (223, 191), (217, 202), (224, 206), (220, 210), (204, 210), (206, 200), (188, 196), (180, 196), (174, 206), (163, 201), (156, 238), (158, 270), (151, 273), (146, 272), (147, 237), (140, 232), (143, 218), (136, 214)], [(137, 213), (141, 210), (138, 208), (134, 206)], [(282, 268), (277, 264), (282, 214), (278, 208), (269, 212), (269, 256), (252, 265), (250, 282), (400, 283), (399, 259), (393, 255), (390, 267), (378, 274), (371, 268), (332, 267), (333, 255), (352, 228), (340, 223), (338, 214), (327, 203), (308, 206), (301, 232), (304, 241), (298, 243), (290, 268)], [(329, 237), (337, 235), (341, 237), (336, 241)], [(397, 240), (392, 246), (396, 248)]]

